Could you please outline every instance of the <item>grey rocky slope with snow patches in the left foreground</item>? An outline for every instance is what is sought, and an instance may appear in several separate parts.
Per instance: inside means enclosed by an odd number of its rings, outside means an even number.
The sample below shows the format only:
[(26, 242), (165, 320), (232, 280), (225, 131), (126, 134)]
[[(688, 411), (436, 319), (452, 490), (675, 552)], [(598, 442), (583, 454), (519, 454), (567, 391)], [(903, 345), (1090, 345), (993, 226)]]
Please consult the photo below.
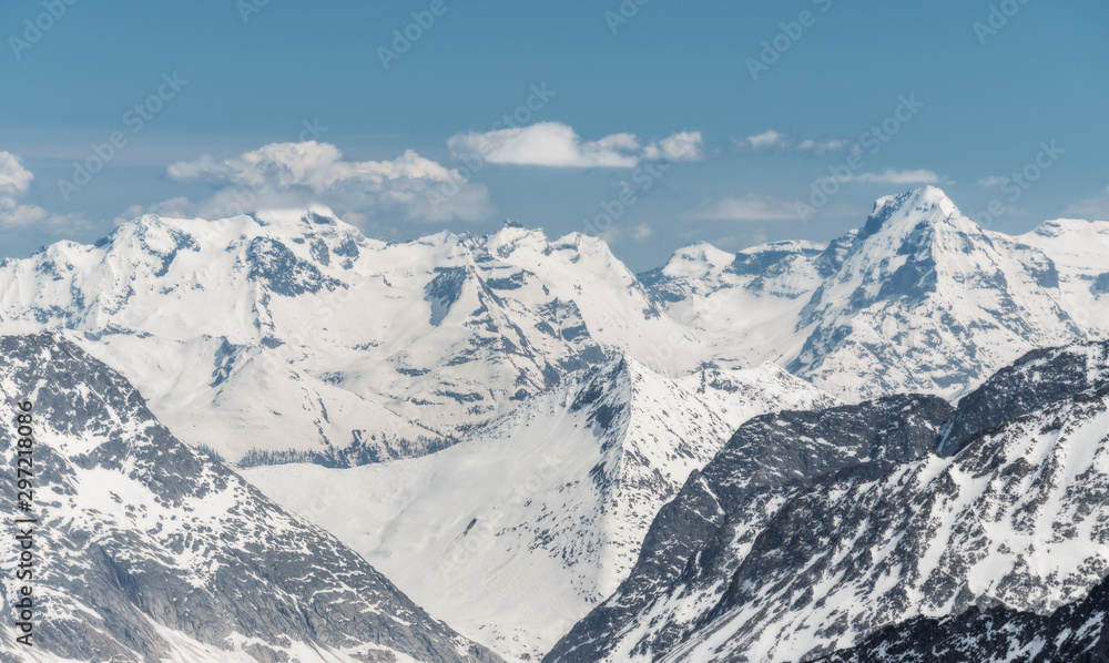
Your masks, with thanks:
[[(8, 408), (33, 402), (33, 660), (499, 660), (177, 441), (123, 377), (61, 337), (0, 337), (0, 392)], [(16, 431), (9, 409), (6, 467)], [(3, 512), (23, 513), (13, 499), (2, 491)], [(0, 579), (6, 605), (21, 584)], [(2, 655), (27, 660), (11, 638)]]

